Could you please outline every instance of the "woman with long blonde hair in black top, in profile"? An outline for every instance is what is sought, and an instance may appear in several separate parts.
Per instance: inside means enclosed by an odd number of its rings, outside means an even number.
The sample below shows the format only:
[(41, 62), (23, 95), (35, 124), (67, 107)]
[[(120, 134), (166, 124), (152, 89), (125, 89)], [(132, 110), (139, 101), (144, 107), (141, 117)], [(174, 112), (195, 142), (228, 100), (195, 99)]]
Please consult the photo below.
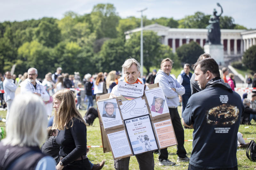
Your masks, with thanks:
[(62, 89), (53, 95), (54, 119), (52, 129), (58, 129), (56, 143), (60, 145), (57, 170), (91, 169), (86, 156), (86, 125), (76, 109), (73, 92)]

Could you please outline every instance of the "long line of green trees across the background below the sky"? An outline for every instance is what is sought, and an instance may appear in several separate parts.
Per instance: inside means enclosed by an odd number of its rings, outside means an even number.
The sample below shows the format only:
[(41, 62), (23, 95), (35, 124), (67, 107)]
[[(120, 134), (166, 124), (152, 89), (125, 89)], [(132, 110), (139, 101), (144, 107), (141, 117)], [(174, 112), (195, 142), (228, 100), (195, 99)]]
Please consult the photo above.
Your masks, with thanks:
[[(180, 20), (144, 17), (143, 25), (158, 23), (171, 28), (205, 28), (209, 18), (210, 15), (202, 12)], [(129, 56), (140, 62), (140, 33), (132, 34), (129, 40), (125, 40), (124, 35), (125, 31), (137, 27), (140, 27), (140, 18), (120, 18), (113, 4), (97, 4), (91, 13), (84, 15), (69, 11), (60, 20), (5, 21), (0, 23), (0, 72), (11, 70), (13, 64), (16, 64), (15, 74), (35, 67), (40, 78), (55, 72), (57, 67), (68, 73), (79, 71), (81, 75), (121, 70)], [(228, 16), (220, 18), (220, 27), (246, 29), (234, 24), (234, 19)], [(154, 32), (143, 32), (143, 44), (143, 65), (148, 72), (151, 66), (159, 67), (166, 57), (174, 60), (174, 67), (187, 62), (186, 57), (173, 54), (169, 46), (161, 44), (161, 37)]]

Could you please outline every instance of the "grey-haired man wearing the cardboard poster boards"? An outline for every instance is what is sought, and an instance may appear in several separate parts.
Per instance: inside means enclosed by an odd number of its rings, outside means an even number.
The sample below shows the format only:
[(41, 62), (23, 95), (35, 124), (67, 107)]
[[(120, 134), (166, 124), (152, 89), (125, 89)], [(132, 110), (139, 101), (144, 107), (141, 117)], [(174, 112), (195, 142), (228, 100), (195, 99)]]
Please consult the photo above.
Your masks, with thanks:
[[(134, 58), (125, 60), (122, 70), (124, 71), (124, 81), (129, 84), (142, 84), (138, 79), (140, 75), (140, 63)], [(110, 97), (120, 96), (121, 94), (117, 90), (118, 85), (113, 87)], [(147, 88), (148, 89), (148, 88)], [(144, 152), (139, 155), (135, 155), (139, 163), (140, 170), (151, 170), (154, 169), (154, 156), (153, 152)], [(130, 157), (115, 160), (116, 170), (129, 170)]]

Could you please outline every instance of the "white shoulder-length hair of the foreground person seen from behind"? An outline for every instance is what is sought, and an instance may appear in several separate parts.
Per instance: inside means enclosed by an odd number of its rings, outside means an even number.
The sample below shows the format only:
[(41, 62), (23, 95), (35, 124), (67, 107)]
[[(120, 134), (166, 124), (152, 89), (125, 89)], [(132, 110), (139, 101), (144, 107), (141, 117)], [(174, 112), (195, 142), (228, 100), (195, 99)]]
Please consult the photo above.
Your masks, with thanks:
[(3, 144), (40, 146), (46, 138), (47, 114), (43, 100), (36, 94), (15, 96)]

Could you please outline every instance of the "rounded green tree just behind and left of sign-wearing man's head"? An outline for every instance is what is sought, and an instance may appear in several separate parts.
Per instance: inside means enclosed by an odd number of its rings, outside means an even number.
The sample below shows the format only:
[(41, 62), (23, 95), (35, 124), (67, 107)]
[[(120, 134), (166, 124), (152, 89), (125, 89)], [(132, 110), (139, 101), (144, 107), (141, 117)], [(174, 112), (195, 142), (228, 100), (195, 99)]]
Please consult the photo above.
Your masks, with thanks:
[(96, 66), (99, 71), (121, 70), (124, 60), (127, 59), (124, 40), (121, 38), (110, 39), (104, 42), (100, 53), (96, 55)]

